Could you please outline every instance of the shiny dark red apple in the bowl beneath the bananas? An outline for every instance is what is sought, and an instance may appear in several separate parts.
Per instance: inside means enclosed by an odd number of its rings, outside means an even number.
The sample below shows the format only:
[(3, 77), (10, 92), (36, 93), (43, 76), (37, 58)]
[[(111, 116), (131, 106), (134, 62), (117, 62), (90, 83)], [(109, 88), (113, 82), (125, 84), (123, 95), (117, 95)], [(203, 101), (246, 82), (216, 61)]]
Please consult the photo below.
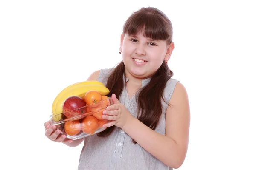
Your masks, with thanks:
[[(86, 113), (86, 103), (79, 96), (68, 97), (63, 103), (62, 111), (67, 118)], [(84, 107), (84, 108), (81, 108)], [(81, 109), (78, 109), (81, 108)]]

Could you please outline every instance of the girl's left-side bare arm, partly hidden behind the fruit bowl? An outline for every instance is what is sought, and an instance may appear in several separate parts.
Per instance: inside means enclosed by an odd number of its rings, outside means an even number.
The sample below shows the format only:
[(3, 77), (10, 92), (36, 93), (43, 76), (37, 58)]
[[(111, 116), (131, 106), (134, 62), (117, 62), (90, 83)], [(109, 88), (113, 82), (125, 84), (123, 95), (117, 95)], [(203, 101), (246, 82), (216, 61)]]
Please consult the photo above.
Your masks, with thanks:
[[(93, 72), (87, 79), (87, 81), (90, 80), (98, 80), (99, 77), (99, 70)], [(69, 147), (76, 147), (79, 144), (81, 144), (81, 142), (83, 142), (84, 140), (86, 140), (87, 138), (82, 138), (82, 139), (77, 139), (77, 140), (71, 140), (71, 139), (67, 139), (66, 135), (60, 135), (61, 131), (60, 130), (56, 130), (56, 126), (55, 125), (50, 125), (50, 121), (47, 121), (44, 123), (44, 127), (45, 127), (45, 136), (47, 136), (47, 138), (49, 138), (50, 140), (54, 141), (54, 142), (62, 142), (64, 144), (66, 144)]]

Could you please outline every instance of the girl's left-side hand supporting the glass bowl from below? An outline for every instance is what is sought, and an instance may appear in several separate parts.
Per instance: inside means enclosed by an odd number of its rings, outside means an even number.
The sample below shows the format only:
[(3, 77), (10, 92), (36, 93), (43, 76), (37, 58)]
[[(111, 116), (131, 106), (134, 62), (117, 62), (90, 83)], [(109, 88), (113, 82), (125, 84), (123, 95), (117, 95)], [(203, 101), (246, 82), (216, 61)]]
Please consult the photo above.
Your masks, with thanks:
[(50, 140), (54, 142), (62, 142), (64, 144), (66, 143), (72, 143), (73, 140), (71, 139), (66, 139), (66, 135), (61, 135), (61, 130), (57, 129), (56, 125), (51, 125), (50, 121), (47, 121), (44, 123), (45, 127), (45, 136), (49, 138)]

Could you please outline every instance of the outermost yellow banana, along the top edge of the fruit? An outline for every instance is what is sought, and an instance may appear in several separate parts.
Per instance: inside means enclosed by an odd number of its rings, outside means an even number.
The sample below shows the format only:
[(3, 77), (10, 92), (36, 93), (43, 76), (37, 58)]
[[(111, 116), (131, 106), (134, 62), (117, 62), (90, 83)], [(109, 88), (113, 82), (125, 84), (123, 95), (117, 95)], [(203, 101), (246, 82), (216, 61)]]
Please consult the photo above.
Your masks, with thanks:
[(61, 119), (61, 114), (56, 115), (56, 104), (59, 101), (59, 99), (61, 99), (61, 96), (63, 96), (64, 94), (66, 94), (68, 91), (84, 86), (84, 85), (100, 85), (102, 87), (105, 87), (105, 85), (102, 82), (99, 81), (84, 81), (84, 82), (77, 82), (75, 84), (69, 85), (67, 88), (64, 88), (54, 99), (53, 103), (52, 103), (52, 113), (53, 116), (52, 118), (54, 119), (55, 122), (59, 121)]

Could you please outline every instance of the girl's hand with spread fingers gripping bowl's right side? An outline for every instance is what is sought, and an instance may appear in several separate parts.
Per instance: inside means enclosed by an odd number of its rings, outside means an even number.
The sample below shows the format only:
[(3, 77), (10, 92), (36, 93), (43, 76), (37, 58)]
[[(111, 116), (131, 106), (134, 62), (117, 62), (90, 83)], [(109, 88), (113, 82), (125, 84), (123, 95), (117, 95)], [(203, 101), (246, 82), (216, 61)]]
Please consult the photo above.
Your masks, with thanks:
[(102, 118), (111, 120), (111, 122), (106, 123), (103, 127), (117, 126), (123, 127), (127, 122), (134, 118), (131, 113), (125, 108), (125, 106), (118, 101), (115, 94), (112, 94), (113, 105), (108, 106), (105, 111), (103, 111)]

